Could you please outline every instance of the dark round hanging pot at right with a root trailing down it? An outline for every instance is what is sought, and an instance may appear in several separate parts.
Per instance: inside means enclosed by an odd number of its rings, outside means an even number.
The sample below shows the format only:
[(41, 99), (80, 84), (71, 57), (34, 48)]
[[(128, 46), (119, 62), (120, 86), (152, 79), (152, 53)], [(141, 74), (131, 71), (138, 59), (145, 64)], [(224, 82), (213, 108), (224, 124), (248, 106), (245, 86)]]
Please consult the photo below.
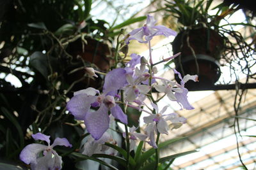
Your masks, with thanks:
[[(176, 57), (175, 69), (182, 76), (198, 74), (199, 82), (189, 81), (189, 90), (212, 86), (220, 78), (220, 55), (223, 50), (223, 38), (212, 29), (200, 28), (180, 32), (172, 43)], [(180, 81), (177, 75), (175, 80)]]

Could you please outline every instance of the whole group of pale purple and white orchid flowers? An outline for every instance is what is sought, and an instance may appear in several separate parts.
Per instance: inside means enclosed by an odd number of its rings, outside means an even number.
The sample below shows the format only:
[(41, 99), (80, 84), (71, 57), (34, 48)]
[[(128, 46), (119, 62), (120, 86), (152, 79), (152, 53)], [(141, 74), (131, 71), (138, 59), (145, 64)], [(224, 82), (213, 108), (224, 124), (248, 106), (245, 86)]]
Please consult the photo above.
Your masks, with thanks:
[[(172, 29), (163, 25), (156, 25), (156, 20), (147, 15), (147, 24), (129, 32), (122, 41), (126, 45), (129, 45), (131, 40), (148, 43), (149, 62), (145, 57), (132, 53), (131, 60), (125, 64), (125, 67), (116, 67), (106, 74), (102, 92), (92, 87), (74, 92), (74, 96), (67, 103), (67, 110), (74, 115), (76, 120), (83, 121), (86, 131), (90, 133), (86, 143), (84, 143), (83, 154), (88, 156), (92, 156), (94, 153), (116, 154), (113, 148), (104, 145), (105, 143), (116, 145), (115, 139), (107, 132), (111, 120), (124, 124), (125, 132), (122, 136), (126, 139), (128, 152), (134, 150), (137, 141), (145, 141), (157, 149), (161, 134), (168, 134), (169, 127), (178, 129), (186, 123), (186, 118), (180, 117), (177, 113), (165, 113), (168, 106), (159, 110), (157, 103), (163, 97), (160, 99), (152, 97), (152, 89), (156, 89), (158, 92), (164, 93), (164, 96), (167, 96), (170, 101), (179, 103), (181, 109), (194, 109), (188, 102), (188, 89), (184, 85), (188, 80), (197, 81), (198, 76), (186, 75), (182, 78), (175, 69), (173, 71), (178, 74), (180, 83), (155, 76), (157, 69), (156, 64), (152, 62), (150, 40), (154, 36), (163, 35), (168, 37), (176, 36), (176, 34)], [(173, 59), (177, 55), (164, 59), (157, 64)], [(87, 68), (87, 70), (89, 70), (91, 76), (97, 76), (95, 73), (100, 73), (92, 68)], [(160, 80), (161, 83), (157, 83), (157, 80)], [(149, 104), (146, 99), (150, 101)], [(140, 127), (134, 126), (128, 130), (127, 107), (148, 114), (148, 116), (143, 117), (146, 126), (142, 132), (136, 132), (136, 129)], [(145, 108), (148, 108), (149, 111)], [(49, 169), (61, 169), (61, 157), (52, 148), (56, 145), (71, 146), (67, 139), (57, 138), (50, 146), (49, 136), (39, 133), (33, 135), (33, 138), (47, 141), (48, 146), (28, 145), (20, 153), (20, 159), (26, 164), (31, 164), (32, 169), (38, 169), (37, 165), (42, 164), (42, 162), (46, 162), (44, 166)], [(43, 152), (42, 157), (38, 156), (40, 152)], [(29, 155), (29, 157), (25, 155)]]

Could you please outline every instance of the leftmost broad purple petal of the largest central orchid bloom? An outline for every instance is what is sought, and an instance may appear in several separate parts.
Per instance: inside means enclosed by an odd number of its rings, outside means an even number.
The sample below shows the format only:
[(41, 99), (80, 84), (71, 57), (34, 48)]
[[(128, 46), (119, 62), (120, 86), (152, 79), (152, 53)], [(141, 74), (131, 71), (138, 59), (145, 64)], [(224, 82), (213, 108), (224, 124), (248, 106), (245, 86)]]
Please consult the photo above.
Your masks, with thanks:
[(83, 120), (86, 113), (90, 111), (91, 104), (94, 103), (97, 96), (87, 96), (87, 94), (78, 94), (67, 103), (67, 110), (71, 112), (76, 120)]

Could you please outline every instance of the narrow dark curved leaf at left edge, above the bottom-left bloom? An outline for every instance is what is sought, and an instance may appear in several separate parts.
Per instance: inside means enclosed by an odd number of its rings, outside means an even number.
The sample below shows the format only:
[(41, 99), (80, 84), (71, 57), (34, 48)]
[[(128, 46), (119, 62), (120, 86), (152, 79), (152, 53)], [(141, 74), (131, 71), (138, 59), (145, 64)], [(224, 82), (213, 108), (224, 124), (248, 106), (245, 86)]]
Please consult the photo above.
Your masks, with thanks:
[(23, 148), (24, 147), (24, 136), (23, 136), (23, 132), (22, 132), (19, 122), (8, 110), (6, 110), (6, 108), (1, 107), (1, 111), (12, 122), (12, 124), (17, 128), (19, 138), (20, 138), (20, 148)]

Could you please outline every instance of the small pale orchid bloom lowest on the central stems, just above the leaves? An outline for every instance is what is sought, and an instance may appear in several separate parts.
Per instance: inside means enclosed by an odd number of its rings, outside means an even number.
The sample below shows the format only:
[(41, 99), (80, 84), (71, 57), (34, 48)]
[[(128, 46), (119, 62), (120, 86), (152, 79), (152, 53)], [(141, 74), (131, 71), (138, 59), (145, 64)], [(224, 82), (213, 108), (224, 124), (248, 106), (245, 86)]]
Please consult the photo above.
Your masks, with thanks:
[[(148, 136), (145, 134), (141, 134), (136, 132), (136, 129), (138, 129), (138, 127), (130, 127), (129, 128), (129, 139), (130, 139), (130, 151), (134, 149), (134, 146), (136, 145), (136, 141), (138, 141), (138, 139), (140, 139), (141, 141), (145, 141)], [(126, 138), (126, 133), (123, 133), (123, 137)]]

